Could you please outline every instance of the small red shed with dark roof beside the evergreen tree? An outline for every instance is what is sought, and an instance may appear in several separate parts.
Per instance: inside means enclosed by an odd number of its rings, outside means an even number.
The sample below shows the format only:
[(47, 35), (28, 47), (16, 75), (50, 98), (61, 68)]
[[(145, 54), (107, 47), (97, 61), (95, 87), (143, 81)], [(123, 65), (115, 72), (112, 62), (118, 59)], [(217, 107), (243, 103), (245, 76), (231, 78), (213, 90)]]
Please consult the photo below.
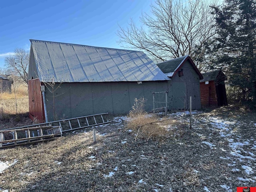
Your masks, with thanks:
[(202, 74), (200, 80), (202, 106), (223, 106), (228, 104), (225, 80), (226, 75), (221, 70)]

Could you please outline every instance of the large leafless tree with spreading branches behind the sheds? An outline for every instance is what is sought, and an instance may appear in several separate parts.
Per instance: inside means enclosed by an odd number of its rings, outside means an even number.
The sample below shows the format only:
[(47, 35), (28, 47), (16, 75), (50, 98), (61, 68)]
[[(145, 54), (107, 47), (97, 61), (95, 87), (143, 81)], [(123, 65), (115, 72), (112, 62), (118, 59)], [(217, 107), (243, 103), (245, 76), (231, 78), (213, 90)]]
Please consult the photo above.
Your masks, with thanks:
[(118, 42), (145, 51), (155, 62), (189, 54), (202, 70), (204, 43), (216, 33), (212, 4), (216, 2), (156, 0), (151, 14), (142, 14), (140, 27), (132, 19), (127, 28), (120, 27)]

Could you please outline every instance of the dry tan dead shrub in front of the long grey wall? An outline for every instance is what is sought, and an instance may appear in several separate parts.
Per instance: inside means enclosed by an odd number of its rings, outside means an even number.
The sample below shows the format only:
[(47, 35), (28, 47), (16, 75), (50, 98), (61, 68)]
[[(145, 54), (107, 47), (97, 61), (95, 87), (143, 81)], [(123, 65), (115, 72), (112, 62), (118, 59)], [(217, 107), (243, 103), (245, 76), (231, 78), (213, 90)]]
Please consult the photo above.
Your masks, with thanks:
[(135, 140), (144, 138), (147, 141), (152, 138), (159, 138), (167, 133), (166, 128), (161, 127), (157, 116), (148, 114), (145, 109), (145, 99), (135, 99), (134, 106), (128, 114), (124, 131), (133, 130), (136, 132)]

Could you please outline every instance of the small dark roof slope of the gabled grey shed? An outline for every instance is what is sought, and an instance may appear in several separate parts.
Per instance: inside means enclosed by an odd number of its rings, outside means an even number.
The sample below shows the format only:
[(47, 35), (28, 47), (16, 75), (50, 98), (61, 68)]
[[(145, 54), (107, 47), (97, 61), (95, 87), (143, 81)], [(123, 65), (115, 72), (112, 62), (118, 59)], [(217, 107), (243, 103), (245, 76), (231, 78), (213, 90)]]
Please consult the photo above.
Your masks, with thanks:
[(168, 77), (172, 77), (174, 72), (179, 68), (179, 66), (183, 63), (183, 61), (188, 57), (182, 56), (179, 58), (171, 59), (168, 61), (160, 62), (157, 66), (164, 72)]

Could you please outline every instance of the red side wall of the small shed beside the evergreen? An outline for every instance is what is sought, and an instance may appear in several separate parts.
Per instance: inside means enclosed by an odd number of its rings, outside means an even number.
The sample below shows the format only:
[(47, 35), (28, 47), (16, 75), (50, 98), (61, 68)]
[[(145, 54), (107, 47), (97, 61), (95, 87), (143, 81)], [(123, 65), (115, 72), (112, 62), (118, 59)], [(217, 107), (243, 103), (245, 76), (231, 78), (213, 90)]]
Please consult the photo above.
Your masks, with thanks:
[(202, 106), (218, 106), (214, 81), (209, 81), (207, 85), (205, 82), (200, 83), (200, 96)]

